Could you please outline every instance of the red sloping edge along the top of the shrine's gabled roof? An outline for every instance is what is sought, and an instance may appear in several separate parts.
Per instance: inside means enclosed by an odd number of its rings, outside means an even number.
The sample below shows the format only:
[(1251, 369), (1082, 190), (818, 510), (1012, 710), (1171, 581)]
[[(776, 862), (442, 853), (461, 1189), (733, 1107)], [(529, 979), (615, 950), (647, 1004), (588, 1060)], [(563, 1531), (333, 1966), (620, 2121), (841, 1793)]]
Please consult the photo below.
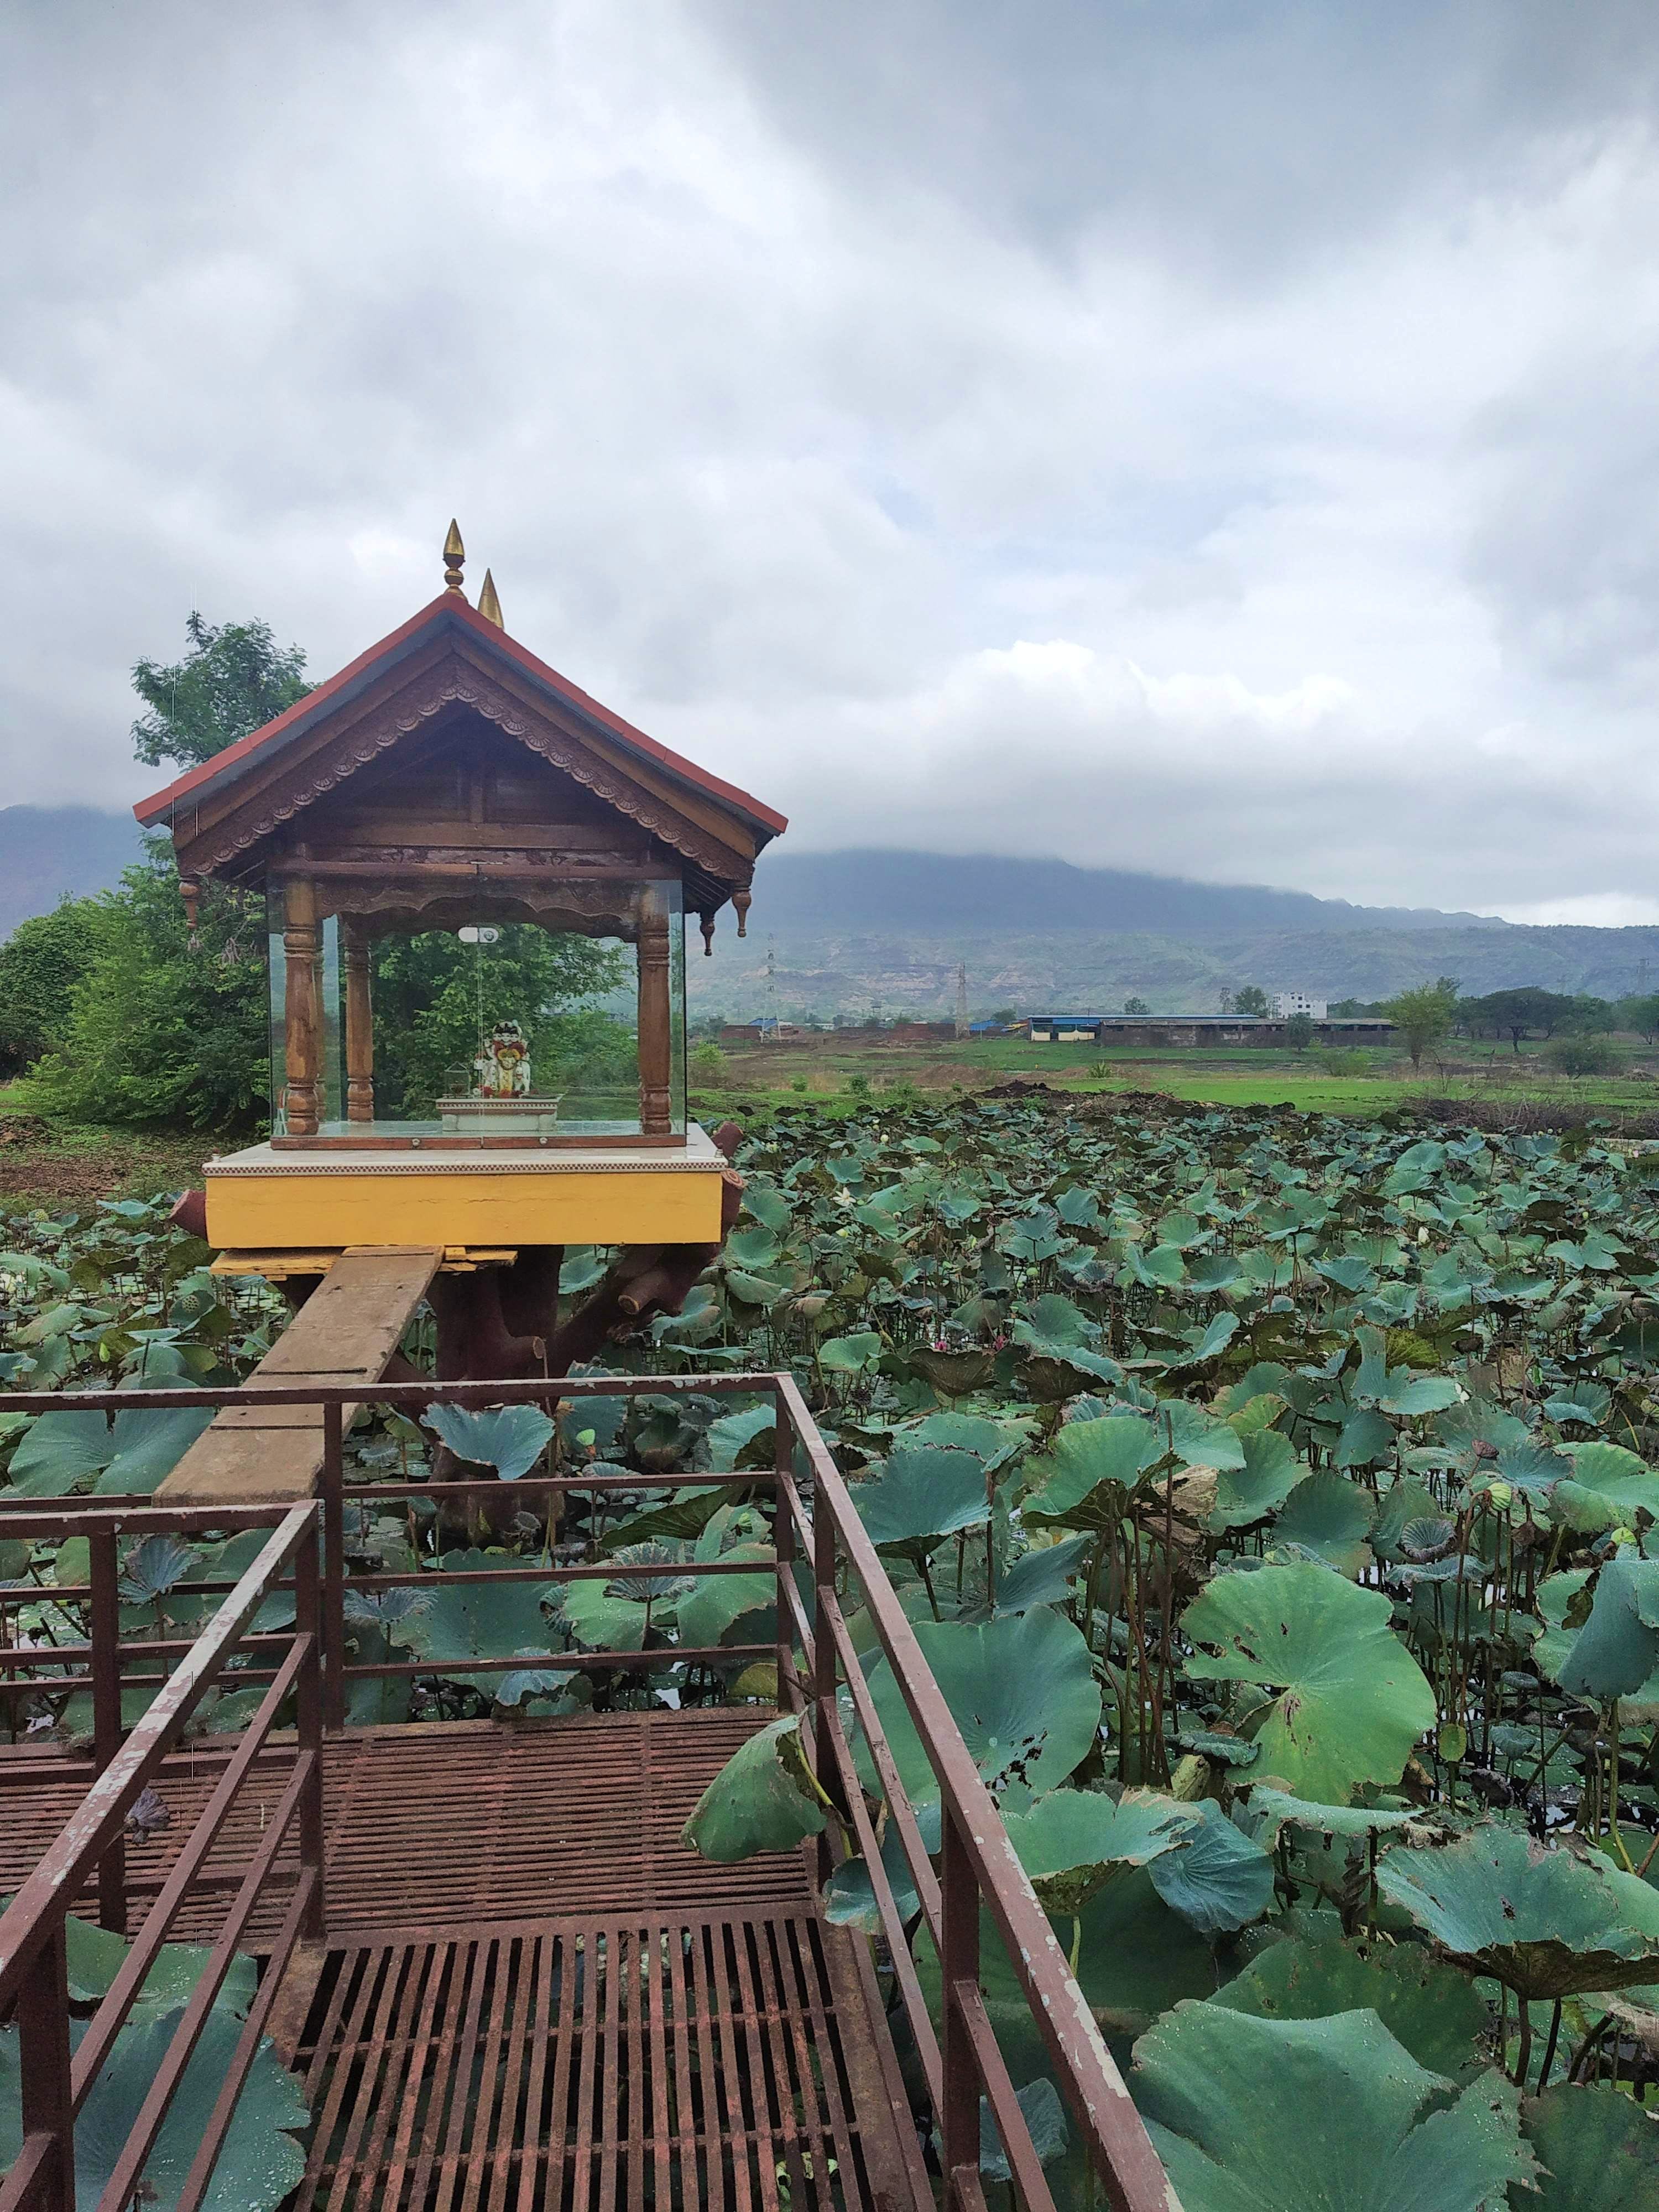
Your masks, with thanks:
[(248, 737), (239, 739), (234, 745), (226, 745), (223, 752), (215, 752), (210, 761), (201, 768), (188, 770), (177, 776), (166, 790), (153, 792), (148, 799), (139, 799), (133, 814), (144, 823), (146, 830), (157, 823), (168, 823), (186, 799), (201, 801), (208, 792), (230, 790), (241, 776), (246, 776), (254, 763), (263, 765), (285, 745), (294, 743), (307, 730), (312, 730), (327, 714), (338, 712), (349, 706), (361, 692), (376, 684), (389, 668), (400, 659), (418, 653), (431, 641), (442, 628), (460, 628), (473, 644), (484, 646), (484, 650), (509, 661), (522, 677), (546, 690), (566, 712), (591, 721), (595, 730), (619, 741), (630, 752), (637, 752), (644, 761), (686, 783), (690, 790), (719, 801), (732, 812), (741, 814), (757, 832), (759, 843), (765, 845), (770, 838), (779, 836), (790, 827), (787, 816), (779, 814), (774, 807), (763, 805), (752, 799), (750, 792), (739, 790), (734, 783), (726, 783), (721, 776), (710, 776), (706, 768), (697, 768), (684, 754), (672, 752), (668, 745), (659, 745), (655, 737), (646, 737), (644, 730), (635, 730), (630, 721), (622, 714), (613, 714), (608, 706), (588, 697), (568, 677), (562, 677), (557, 668), (549, 668), (546, 661), (538, 659), (515, 637), (500, 630), (493, 622), (469, 606), (460, 593), (440, 591), (436, 599), (411, 615), (400, 628), (392, 630), (367, 653), (361, 653), (354, 661), (338, 670), (338, 675), (327, 677), (316, 690), (305, 692), (296, 699), (285, 714), (274, 721), (263, 723), (259, 730), (250, 730)]

